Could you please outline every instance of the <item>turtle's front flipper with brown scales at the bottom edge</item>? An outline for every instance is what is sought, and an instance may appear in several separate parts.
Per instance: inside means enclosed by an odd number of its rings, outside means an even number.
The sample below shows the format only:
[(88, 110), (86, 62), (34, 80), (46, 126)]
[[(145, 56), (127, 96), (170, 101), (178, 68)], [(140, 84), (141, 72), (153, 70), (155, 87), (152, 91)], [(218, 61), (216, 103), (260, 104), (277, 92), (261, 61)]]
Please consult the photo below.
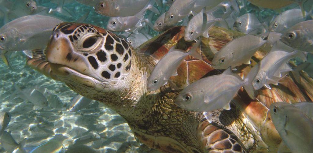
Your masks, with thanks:
[(247, 152), (230, 130), (203, 118), (197, 128), (197, 137), (203, 152)]

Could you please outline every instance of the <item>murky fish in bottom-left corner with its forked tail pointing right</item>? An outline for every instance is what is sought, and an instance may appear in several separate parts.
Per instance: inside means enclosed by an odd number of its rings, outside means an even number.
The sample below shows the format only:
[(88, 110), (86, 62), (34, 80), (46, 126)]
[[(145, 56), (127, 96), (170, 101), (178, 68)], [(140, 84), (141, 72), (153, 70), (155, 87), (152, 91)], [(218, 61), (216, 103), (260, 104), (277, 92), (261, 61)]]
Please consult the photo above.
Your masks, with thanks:
[(24, 144), (27, 138), (22, 140), (20, 143), (17, 143), (12, 135), (11, 132), (4, 131), (1, 137), (1, 146), (8, 152), (13, 152), (13, 150), (18, 147), (23, 153), (26, 153), (24, 150)]

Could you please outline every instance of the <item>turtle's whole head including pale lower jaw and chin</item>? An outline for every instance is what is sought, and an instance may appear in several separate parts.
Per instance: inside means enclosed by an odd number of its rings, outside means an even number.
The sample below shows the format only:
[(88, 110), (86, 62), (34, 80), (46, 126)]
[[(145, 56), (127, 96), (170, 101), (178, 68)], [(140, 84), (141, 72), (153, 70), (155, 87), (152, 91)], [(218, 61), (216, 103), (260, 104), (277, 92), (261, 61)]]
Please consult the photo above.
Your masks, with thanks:
[(136, 63), (133, 53), (126, 40), (105, 29), (62, 23), (53, 30), (46, 60), (58, 80), (85, 97), (103, 101), (103, 95), (131, 86), (128, 83), (133, 82), (130, 78), (134, 76), (130, 72)]

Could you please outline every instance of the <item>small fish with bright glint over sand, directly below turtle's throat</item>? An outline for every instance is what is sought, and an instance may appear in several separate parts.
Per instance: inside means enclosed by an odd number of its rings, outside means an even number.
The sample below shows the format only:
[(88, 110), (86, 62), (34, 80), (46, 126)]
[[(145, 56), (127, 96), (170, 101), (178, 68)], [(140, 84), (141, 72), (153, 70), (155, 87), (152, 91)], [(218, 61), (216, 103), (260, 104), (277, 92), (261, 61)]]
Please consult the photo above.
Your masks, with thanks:
[(76, 112), (83, 108), (86, 108), (90, 103), (92, 99), (86, 98), (82, 95), (77, 95), (69, 104), (69, 109), (67, 109), (69, 112)]

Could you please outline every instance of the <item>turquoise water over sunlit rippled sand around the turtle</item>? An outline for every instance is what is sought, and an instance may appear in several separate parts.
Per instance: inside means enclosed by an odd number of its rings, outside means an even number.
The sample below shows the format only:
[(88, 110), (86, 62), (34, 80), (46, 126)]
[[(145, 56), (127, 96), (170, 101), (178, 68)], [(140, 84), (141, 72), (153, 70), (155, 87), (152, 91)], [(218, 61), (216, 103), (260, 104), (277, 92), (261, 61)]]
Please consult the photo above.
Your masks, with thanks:
[[(55, 8), (56, 3), (49, 0), (37, 1), (38, 4)], [(255, 13), (259, 18), (268, 18), (277, 13), (270, 9), (259, 9), (246, 3), (244, 11)], [(156, 6), (156, 5), (155, 5)], [(82, 5), (75, 1), (65, 3), (64, 8), (69, 9), (75, 16), (73, 18), (55, 14), (66, 21), (75, 21), (90, 11), (85, 23), (94, 24), (105, 28), (109, 17), (95, 13), (91, 6)], [(160, 8), (159, 8), (160, 9)], [(286, 8), (289, 9), (289, 8)], [(153, 16), (152, 23), (158, 18)], [(118, 34), (118, 33), (117, 33)], [(156, 36), (159, 32), (150, 30)], [(54, 81), (43, 74), (25, 65), (25, 55), (14, 52), (10, 56), (13, 67), (0, 62), (0, 112), (10, 112), (11, 122), (6, 131), (11, 131), (13, 138), (19, 142), (28, 138), (25, 146), (37, 146), (43, 142), (55, 139), (63, 141), (64, 146), (71, 152), (75, 140), (86, 135), (99, 135), (99, 140), (83, 143), (89, 151), (95, 152), (148, 152), (150, 149), (136, 141), (126, 121), (110, 108), (106, 108), (97, 101), (79, 112), (68, 112), (70, 99), (77, 95), (63, 82)], [(46, 89), (49, 94), (57, 95), (63, 106), (59, 108), (40, 108), (33, 103), (18, 97), (13, 84), (22, 89), (37, 88), (39, 91)], [(82, 147), (82, 146), (80, 146)], [(79, 148), (75, 146), (74, 149)], [(91, 151), (92, 150), (92, 151)], [(3, 148), (0, 152), (4, 152)], [(73, 151), (72, 152), (76, 152)]]

